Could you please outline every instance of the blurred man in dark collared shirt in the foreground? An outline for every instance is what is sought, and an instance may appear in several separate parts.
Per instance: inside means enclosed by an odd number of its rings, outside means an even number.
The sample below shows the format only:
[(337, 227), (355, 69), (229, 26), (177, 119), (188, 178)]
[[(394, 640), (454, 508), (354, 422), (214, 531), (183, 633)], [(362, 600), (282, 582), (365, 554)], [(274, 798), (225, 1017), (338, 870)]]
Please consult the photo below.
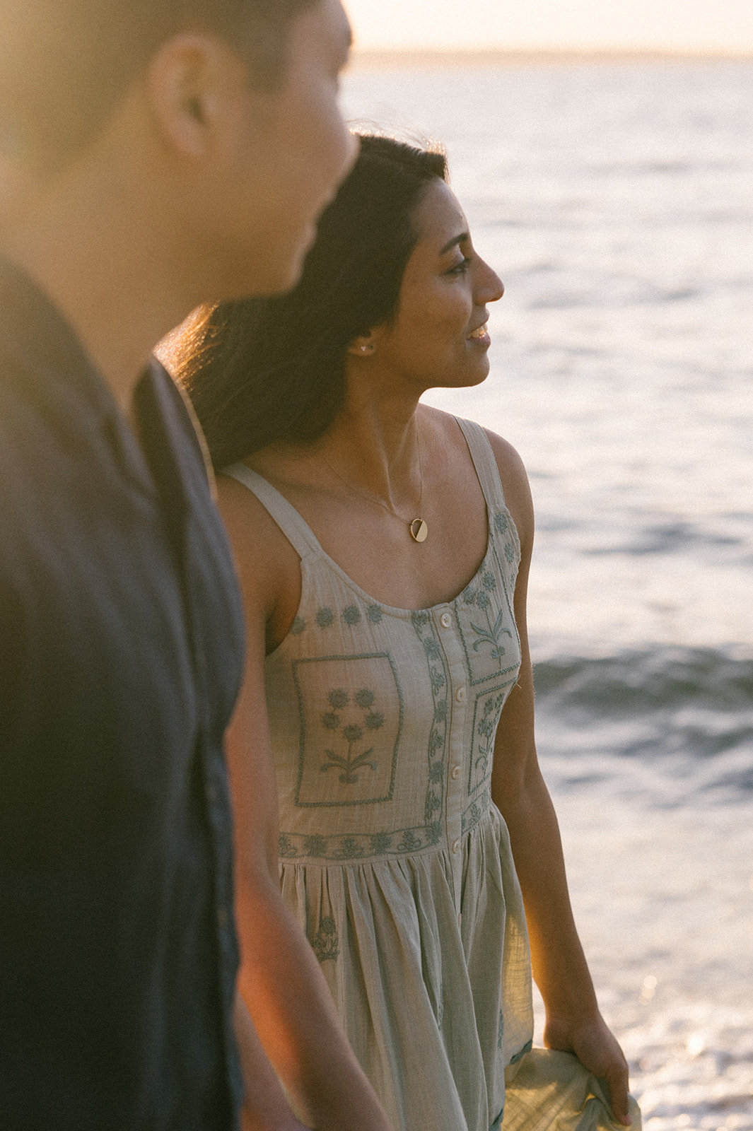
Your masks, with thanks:
[[(353, 156), (348, 44), (339, 0), (0, 3), (3, 1131), (236, 1126), (240, 607), (144, 366), (198, 303), (295, 282)], [(300, 1126), (235, 1026), (249, 1125)]]

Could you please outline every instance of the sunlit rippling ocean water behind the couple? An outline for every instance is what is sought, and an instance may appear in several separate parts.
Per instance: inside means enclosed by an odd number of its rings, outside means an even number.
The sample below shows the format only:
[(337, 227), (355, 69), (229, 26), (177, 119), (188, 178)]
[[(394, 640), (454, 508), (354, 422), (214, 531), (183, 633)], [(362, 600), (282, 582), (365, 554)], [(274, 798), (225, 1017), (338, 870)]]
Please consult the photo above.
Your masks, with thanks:
[[(753, 61), (356, 66), (505, 282), (538, 744), (648, 1131), (753, 1131)], [(539, 1010), (540, 1026), (540, 1010)]]

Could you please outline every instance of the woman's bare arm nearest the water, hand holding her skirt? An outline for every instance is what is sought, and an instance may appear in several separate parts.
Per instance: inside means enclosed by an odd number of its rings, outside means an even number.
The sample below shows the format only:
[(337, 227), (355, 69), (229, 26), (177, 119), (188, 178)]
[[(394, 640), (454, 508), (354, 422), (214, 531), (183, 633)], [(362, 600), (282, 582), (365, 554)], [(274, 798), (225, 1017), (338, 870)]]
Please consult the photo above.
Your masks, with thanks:
[(490, 434), (508, 507), (521, 543), (514, 613), (522, 662), (496, 733), (492, 798), (512, 845), (530, 936), (536, 984), (546, 1009), (544, 1043), (573, 1052), (589, 1071), (606, 1079), (617, 1120), (628, 1115), (628, 1064), (599, 1013), (594, 984), (570, 906), (557, 819), (542, 777), (534, 742), (534, 680), (528, 651), (526, 597), (534, 541), (534, 510), (518, 454)]

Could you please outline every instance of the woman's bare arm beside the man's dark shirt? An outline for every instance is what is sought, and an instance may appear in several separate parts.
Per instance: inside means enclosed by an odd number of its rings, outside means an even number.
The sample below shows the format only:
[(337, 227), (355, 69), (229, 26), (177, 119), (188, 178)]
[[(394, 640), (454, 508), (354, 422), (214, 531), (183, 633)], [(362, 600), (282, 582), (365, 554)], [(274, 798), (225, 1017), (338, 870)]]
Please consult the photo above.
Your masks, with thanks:
[[(345, 1036), (313, 950), (279, 889), (277, 787), (263, 662), (267, 623), (286, 603), (285, 579), (291, 568), (294, 594), (300, 585), (297, 555), (245, 487), (220, 477), (218, 491), (246, 618), (244, 681), (227, 733), (242, 952), (240, 993), (305, 1123), (318, 1131), (390, 1131)], [(250, 1120), (248, 1108), (249, 1097)]]

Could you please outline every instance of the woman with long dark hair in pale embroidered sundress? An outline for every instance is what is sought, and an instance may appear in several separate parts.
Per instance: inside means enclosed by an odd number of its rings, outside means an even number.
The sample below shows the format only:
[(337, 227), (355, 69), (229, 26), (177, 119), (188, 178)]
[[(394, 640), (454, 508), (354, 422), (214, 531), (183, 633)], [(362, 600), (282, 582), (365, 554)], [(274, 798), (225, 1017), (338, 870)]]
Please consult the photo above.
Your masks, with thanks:
[(505, 1069), (505, 1128), (630, 1122), (533, 740), (526, 473), (419, 404), (486, 378), (502, 293), (443, 156), (363, 137), (298, 287), (178, 343), (248, 619), (241, 990), (312, 1120), (348, 1071), (326, 979), (401, 1131), (497, 1126)]

